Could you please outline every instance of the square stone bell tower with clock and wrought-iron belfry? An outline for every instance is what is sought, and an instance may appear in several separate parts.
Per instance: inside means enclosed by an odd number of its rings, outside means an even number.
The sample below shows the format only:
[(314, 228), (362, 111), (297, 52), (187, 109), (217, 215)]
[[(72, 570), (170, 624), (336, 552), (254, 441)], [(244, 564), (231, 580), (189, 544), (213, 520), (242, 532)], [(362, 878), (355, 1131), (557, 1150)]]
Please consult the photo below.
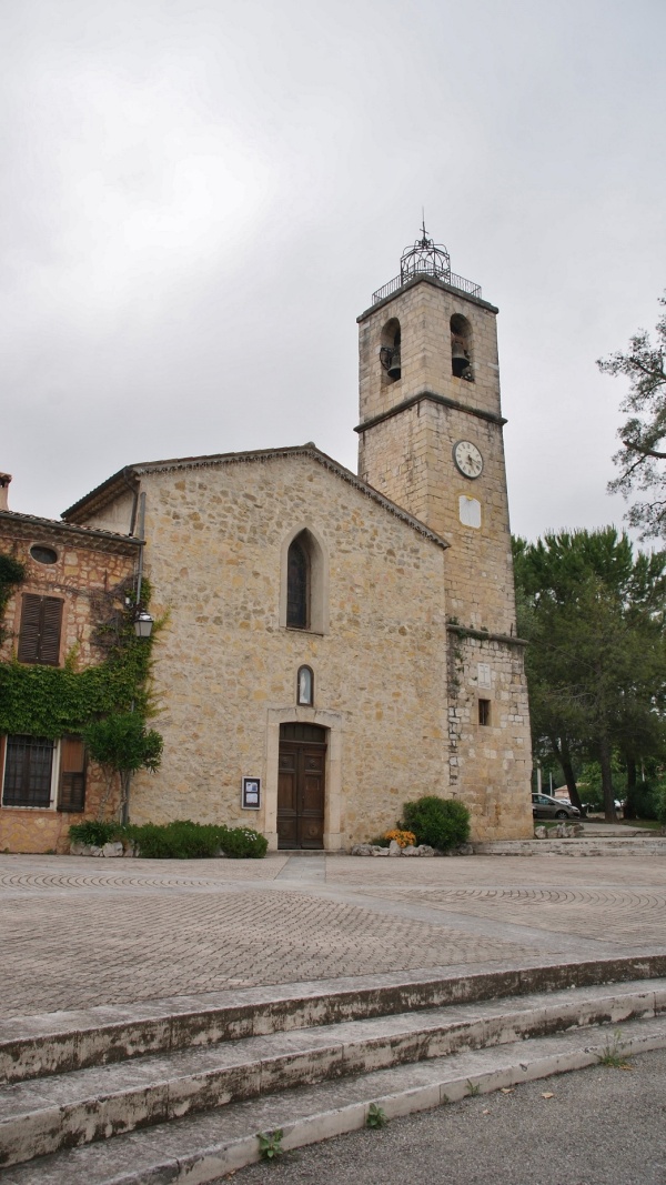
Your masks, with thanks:
[[(515, 636), (498, 309), (425, 226), (359, 324), (359, 475), (449, 544), (449, 792), (476, 838), (532, 833)], [(444, 693), (444, 688), (442, 688)]]

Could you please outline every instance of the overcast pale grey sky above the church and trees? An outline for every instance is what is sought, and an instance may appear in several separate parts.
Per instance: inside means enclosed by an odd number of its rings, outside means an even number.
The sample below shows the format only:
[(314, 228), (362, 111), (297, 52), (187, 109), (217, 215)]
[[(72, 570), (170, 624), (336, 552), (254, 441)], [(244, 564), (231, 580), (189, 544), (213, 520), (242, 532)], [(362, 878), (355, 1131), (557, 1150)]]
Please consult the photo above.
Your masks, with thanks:
[(0, 469), (357, 462), (357, 325), (417, 237), (499, 305), (512, 526), (621, 523), (666, 287), (664, 0), (5, 0)]

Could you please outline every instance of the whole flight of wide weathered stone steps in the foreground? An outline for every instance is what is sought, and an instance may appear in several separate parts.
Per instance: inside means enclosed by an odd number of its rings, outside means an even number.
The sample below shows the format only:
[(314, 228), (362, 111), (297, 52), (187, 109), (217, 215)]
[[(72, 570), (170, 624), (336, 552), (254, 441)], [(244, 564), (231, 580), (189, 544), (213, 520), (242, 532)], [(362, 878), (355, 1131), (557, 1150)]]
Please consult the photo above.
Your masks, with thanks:
[(214, 1180), (666, 1045), (666, 956), (280, 985), (0, 1021), (1, 1185)]

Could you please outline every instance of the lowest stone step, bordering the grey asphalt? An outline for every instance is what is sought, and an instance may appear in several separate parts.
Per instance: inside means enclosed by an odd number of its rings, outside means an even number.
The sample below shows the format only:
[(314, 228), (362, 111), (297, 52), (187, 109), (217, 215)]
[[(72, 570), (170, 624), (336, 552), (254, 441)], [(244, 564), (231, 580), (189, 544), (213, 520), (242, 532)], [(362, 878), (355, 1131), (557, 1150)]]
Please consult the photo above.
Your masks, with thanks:
[[(579, 1029), (374, 1070), (231, 1103), (160, 1123), (110, 1144), (90, 1144), (2, 1174), (2, 1185), (204, 1185), (260, 1159), (258, 1132), (283, 1130), (284, 1151), (366, 1123), (371, 1103), (388, 1119), (666, 1046), (666, 1018)], [(553, 1090), (557, 1085), (553, 1084)], [(372, 1136), (369, 1134), (369, 1139)]]

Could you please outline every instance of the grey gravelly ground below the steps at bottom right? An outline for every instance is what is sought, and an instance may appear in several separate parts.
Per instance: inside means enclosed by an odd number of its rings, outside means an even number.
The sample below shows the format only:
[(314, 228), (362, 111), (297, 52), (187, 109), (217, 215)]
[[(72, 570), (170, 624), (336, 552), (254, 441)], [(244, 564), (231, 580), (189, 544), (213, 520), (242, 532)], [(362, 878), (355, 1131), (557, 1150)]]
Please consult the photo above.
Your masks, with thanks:
[[(552, 1097), (544, 1098), (544, 1094)], [(666, 1050), (393, 1120), (235, 1185), (666, 1185)]]

